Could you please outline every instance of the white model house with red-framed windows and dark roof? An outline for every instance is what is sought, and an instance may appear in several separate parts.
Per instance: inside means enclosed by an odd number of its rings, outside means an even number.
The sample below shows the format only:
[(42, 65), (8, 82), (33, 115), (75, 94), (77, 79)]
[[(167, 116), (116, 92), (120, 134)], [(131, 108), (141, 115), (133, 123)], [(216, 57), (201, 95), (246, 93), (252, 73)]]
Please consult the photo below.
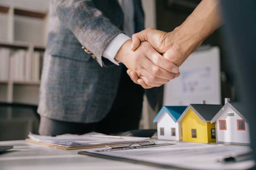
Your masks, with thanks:
[(244, 103), (225, 99), (225, 105), (211, 120), (216, 123), (217, 143), (250, 144), (249, 124), (243, 115), (245, 110)]

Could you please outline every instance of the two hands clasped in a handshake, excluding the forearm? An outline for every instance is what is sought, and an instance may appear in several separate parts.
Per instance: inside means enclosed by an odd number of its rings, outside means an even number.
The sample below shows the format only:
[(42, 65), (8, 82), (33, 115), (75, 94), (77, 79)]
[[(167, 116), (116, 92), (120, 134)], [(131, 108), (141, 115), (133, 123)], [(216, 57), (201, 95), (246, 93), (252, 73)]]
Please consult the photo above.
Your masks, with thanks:
[(179, 66), (201, 45), (195, 46), (182, 37), (179, 27), (169, 33), (147, 28), (133, 34), (115, 59), (128, 68), (127, 74), (134, 83), (143, 88), (159, 87), (179, 77)]

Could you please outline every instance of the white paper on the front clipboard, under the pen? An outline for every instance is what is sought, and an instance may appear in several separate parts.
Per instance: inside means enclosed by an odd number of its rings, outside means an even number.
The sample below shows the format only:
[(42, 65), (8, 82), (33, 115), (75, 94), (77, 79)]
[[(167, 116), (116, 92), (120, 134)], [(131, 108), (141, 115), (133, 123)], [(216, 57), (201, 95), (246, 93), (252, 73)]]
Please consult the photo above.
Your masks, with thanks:
[[(167, 143), (167, 142), (165, 142)], [(156, 143), (157, 144), (157, 143)], [(223, 157), (251, 151), (246, 146), (219, 146), (197, 143), (177, 143), (167, 146), (145, 147), (126, 150), (102, 152), (108, 148), (84, 150), (93, 156), (103, 155), (104, 158), (122, 158), (140, 162), (152, 163), (159, 166), (181, 169), (247, 169), (255, 163), (252, 160), (237, 163), (222, 163)], [(101, 150), (101, 152), (99, 152)], [(90, 154), (91, 155), (91, 154)], [(108, 156), (108, 157), (106, 157)], [(118, 159), (117, 159), (118, 160)]]

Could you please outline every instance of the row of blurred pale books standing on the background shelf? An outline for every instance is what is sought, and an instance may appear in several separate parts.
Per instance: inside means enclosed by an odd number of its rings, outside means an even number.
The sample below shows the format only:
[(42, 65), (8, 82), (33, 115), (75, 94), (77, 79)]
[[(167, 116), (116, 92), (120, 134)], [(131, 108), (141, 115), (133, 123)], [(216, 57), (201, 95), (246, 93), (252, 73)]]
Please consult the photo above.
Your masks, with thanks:
[(0, 48), (0, 80), (40, 80), (43, 52)]

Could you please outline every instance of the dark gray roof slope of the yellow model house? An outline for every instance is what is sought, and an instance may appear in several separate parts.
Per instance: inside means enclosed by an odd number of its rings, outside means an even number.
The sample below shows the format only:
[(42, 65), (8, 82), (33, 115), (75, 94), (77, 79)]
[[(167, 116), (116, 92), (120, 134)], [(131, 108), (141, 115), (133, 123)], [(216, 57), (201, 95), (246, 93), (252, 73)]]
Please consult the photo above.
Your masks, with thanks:
[[(195, 111), (200, 114), (205, 121), (211, 121), (212, 118), (220, 111), (221, 105), (191, 104)], [(200, 116), (199, 116), (200, 117)]]

